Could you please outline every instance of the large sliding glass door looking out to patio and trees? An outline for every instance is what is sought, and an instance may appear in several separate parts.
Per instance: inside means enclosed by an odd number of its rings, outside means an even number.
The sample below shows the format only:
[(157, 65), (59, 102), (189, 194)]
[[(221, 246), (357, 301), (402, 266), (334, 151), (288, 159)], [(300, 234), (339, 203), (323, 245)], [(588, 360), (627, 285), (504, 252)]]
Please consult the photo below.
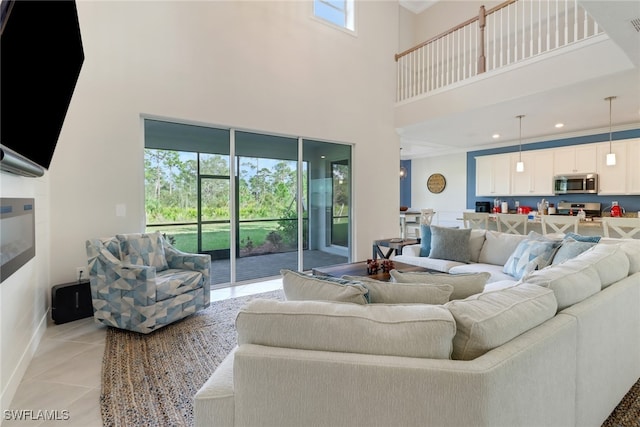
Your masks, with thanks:
[(213, 285), (349, 260), (349, 145), (145, 120), (145, 194), (147, 230), (211, 254)]

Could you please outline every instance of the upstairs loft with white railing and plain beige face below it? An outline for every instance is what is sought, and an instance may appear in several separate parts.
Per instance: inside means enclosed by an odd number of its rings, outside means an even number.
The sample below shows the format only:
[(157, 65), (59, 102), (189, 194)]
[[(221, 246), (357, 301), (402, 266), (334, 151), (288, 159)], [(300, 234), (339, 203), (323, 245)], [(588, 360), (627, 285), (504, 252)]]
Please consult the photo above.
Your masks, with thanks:
[(617, 124), (640, 123), (639, 2), (509, 0), (396, 59), (405, 159), (512, 145), (518, 114), (526, 138), (557, 134), (557, 117), (565, 133), (599, 129), (611, 95)]

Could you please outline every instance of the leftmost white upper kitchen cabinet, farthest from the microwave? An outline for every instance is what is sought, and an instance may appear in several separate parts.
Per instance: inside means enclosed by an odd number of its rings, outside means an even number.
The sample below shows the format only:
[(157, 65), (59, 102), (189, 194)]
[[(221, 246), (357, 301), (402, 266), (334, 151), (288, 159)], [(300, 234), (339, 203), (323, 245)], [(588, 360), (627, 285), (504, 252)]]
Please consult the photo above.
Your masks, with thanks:
[(476, 157), (476, 196), (510, 195), (511, 169), (510, 154)]

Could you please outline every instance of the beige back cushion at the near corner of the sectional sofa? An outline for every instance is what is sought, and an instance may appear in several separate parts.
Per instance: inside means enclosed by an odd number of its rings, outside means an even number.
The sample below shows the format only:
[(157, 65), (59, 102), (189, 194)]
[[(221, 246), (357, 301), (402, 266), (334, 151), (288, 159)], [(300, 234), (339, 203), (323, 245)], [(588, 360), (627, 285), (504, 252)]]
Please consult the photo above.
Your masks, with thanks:
[(553, 291), (523, 284), (445, 304), (456, 319), (452, 359), (475, 359), (556, 314)]

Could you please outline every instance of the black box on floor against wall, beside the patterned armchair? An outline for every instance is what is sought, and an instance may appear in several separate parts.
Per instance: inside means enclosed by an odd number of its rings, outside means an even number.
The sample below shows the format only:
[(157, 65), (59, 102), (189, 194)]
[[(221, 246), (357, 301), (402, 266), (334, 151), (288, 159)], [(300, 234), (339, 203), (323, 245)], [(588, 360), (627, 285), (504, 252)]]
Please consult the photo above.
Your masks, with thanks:
[(89, 281), (64, 283), (51, 288), (51, 317), (59, 325), (93, 316)]

